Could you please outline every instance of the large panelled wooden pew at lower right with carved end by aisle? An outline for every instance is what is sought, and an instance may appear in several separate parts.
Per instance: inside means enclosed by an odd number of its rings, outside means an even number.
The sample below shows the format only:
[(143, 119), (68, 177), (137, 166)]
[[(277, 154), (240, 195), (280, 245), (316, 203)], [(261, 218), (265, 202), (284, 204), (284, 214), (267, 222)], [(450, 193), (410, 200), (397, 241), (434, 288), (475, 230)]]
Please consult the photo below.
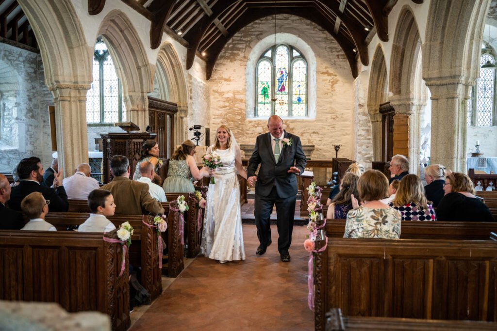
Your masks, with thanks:
[(497, 321), (494, 241), (333, 238), (314, 262), (316, 330), (331, 308), (346, 316)]

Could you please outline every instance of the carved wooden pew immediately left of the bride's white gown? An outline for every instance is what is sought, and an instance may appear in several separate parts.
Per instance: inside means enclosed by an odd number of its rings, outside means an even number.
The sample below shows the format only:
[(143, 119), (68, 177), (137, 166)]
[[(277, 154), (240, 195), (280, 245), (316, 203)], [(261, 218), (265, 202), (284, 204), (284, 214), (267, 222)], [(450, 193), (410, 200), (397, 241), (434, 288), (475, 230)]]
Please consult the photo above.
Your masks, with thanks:
[[(191, 194), (193, 195), (193, 194)], [(188, 193), (166, 193), (167, 201), (173, 201), (179, 196), (184, 196), (185, 201), (188, 204), (188, 211), (184, 213), (185, 220), (185, 244), (186, 247), (186, 257), (189, 259), (195, 258), (200, 253), (200, 239), (202, 237), (203, 228), (203, 214), (202, 214), (202, 226), (198, 229), (197, 226), (197, 216), (198, 216), (198, 205), (197, 199), (190, 196)], [(169, 202), (163, 202), (163, 206), (169, 205)]]

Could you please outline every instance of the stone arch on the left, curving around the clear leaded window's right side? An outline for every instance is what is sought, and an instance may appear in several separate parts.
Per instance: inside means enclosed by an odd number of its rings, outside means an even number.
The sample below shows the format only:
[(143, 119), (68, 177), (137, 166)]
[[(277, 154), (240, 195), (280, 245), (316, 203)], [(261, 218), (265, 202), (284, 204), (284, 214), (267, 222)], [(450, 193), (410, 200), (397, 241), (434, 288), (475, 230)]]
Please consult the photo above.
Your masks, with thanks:
[(114, 9), (102, 20), (98, 36), (105, 41), (122, 81), (127, 118), (145, 130), (148, 124), (147, 93), (154, 89), (154, 68), (138, 33), (126, 14)]

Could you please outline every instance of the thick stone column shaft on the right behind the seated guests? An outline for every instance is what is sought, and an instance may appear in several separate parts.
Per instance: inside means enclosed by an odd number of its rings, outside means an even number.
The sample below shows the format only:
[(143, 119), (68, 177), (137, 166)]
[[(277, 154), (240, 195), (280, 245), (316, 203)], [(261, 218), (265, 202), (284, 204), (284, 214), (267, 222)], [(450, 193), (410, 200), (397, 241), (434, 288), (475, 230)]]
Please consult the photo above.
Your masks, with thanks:
[(466, 100), (471, 86), (430, 81), (431, 164), (466, 173)]

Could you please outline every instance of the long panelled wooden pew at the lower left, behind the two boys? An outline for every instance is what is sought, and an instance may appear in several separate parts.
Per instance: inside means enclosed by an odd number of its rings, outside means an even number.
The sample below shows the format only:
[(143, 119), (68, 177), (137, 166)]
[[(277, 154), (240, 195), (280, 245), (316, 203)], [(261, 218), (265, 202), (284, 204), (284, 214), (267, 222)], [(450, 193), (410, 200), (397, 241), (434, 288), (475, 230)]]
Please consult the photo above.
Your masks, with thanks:
[[(108, 236), (117, 238), (116, 231)], [(69, 312), (99, 311), (112, 330), (130, 325), (128, 258), (102, 234), (0, 230), (0, 299), (57, 302)]]

